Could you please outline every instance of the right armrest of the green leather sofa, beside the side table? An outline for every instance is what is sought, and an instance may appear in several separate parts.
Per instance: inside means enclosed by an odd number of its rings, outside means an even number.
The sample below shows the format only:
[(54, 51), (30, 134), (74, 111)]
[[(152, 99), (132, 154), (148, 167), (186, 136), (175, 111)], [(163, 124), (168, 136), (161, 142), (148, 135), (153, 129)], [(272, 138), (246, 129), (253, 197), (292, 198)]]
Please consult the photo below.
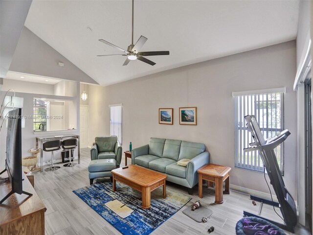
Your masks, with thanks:
[(199, 182), (197, 170), (201, 166), (209, 163), (209, 156), (210, 156), (209, 152), (205, 151), (191, 159), (187, 164), (186, 180), (191, 188), (194, 187)]

